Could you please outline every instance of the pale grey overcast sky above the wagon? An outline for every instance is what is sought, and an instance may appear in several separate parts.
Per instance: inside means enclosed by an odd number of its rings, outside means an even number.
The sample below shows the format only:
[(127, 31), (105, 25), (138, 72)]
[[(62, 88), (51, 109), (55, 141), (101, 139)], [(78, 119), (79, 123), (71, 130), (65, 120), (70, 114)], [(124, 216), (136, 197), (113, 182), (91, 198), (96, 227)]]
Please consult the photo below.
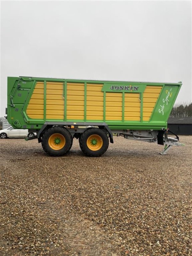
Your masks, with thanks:
[(191, 102), (191, 1), (1, 1), (7, 76), (183, 82)]

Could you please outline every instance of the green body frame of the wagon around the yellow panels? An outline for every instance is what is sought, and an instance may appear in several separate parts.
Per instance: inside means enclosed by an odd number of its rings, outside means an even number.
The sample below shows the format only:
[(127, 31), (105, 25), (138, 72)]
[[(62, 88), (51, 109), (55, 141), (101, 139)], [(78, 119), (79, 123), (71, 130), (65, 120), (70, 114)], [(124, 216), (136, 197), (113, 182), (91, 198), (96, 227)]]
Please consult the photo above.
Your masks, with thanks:
[[(28, 103), (33, 94), (37, 82), (44, 83), (44, 118), (32, 119), (26, 114)], [(64, 97), (64, 120), (46, 119), (46, 82), (62, 82)], [(84, 83), (84, 120), (67, 119), (67, 83)], [(103, 84), (103, 120), (86, 119), (86, 101), (87, 101), (87, 84)], [(146, 86), (162, 86), (159, 98), (153, 109), (149, 121), (143, 121), (143, 92)], [(113, 129), (130, 129), (130, 130), (161, 130), (167, 128), (167, 120), (171, 113), (174, 102), (179, 93), (182, 83), (147, 83), (147, 82), (122, 82), (122, 81), (95, 81), (95, 80), (76, 80), (76, 79), (56, 79), (56, 78), (39, 78), (39, 77), (8, 77), (7, 89), (7, 119), (14, 128), (21, 129), (41, 129), (45, 121), (55, 122), (92, 122), (107, 123), (111, 130)], [(122, 93), (122, 120), (106, 120), (106, 93)], [(125, 93), (139, 93), (140, 95), (140, 121), (125, 121), (124, 106)]]

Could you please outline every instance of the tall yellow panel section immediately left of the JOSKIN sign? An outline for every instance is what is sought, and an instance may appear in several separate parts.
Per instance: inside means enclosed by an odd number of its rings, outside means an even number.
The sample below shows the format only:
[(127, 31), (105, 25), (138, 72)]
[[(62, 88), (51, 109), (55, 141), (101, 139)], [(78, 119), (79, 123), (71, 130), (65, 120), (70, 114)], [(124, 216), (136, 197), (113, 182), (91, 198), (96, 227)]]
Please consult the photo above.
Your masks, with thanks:
[(103, 120), (103, 84), (87, 84), (87, 120)]

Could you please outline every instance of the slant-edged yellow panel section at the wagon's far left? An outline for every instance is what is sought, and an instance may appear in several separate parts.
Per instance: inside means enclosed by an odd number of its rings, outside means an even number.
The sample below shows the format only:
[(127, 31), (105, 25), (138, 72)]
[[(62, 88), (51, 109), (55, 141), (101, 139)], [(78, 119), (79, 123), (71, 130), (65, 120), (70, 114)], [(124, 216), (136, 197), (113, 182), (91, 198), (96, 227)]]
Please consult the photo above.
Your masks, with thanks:
[(44, 119), (44, 82), (37, 82), (26, 114), (32, 119)]

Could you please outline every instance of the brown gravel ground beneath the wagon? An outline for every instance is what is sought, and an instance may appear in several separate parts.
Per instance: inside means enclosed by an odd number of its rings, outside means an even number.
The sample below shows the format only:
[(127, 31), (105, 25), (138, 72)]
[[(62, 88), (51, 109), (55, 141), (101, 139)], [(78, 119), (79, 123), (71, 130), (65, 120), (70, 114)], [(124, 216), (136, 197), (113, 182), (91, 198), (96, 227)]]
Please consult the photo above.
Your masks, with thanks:
[(191, 255), (191, 137), (184, 147), (116, 137), (98, 158), (0, 140), (0, 255)]

